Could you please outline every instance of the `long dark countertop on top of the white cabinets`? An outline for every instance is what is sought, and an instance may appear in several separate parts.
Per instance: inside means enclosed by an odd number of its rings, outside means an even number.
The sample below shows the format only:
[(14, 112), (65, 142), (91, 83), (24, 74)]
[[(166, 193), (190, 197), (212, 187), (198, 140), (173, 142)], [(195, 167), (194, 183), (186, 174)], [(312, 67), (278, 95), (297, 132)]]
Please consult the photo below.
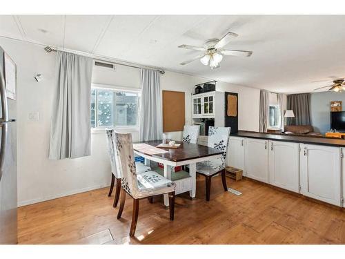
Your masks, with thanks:
[(297, 142), (304, 144), (315, 144), (323, 146), (337, 146), (345, 147), (345, 140), (332, 137), (307, 137), (301, 135), (284, 135), (284, 134), (270, 134), (258, 133), (253, 131), (239, 131), (236, 134), (231, 134), (233, 137), (250, 137), (263, 140), (275, 140), (284, 142)]

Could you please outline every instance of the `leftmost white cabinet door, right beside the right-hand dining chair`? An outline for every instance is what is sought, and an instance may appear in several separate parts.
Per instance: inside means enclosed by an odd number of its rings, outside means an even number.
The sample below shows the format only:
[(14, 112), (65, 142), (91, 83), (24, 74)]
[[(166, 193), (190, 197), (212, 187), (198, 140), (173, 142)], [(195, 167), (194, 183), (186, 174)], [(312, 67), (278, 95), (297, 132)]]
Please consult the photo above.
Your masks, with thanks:
[(227, 165), (243, 170), (246, 176), (246, 139), (244, 137), (230, 137), (227, 156)]

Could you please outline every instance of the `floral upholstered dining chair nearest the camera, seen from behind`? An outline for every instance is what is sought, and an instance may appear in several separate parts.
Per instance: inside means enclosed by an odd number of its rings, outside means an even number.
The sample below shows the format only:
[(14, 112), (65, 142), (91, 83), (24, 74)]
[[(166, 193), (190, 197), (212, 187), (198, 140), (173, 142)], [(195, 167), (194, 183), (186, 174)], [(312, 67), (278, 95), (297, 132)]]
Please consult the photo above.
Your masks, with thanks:
[(121, 218), (126, 200), (126, 193), (133, 199), (132, 224), (130, 236), (134, 236), (139, 214), (139, 200), (151, 198), (155, 195), (168, 194), (170, 220), (174, 220), (175, 182), (164, 178), (155, 171), (137, 174), (134, 162), (132, 135), (130, 133), (117, 133), (114, 135), (115, 162), (119, 165), (121, 174), (121, 201), (117, 218)]

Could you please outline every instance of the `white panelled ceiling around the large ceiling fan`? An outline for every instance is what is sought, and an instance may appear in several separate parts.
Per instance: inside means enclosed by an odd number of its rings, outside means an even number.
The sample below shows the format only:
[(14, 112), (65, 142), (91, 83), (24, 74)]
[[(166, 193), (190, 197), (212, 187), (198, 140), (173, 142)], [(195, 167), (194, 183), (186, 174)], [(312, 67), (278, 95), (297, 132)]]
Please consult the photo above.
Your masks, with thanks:
[[(2, 15), (0, 35), (233, 84), (300, 93), (345, 77), (344, 24), (343, 15)], [(251, 57), (226, 56), (215, 70), (200, 61), (179, 65), (199, 52), (177, 46), (202, 46), (228, 31), (239, 37), (226, 48), (253, 50)]]

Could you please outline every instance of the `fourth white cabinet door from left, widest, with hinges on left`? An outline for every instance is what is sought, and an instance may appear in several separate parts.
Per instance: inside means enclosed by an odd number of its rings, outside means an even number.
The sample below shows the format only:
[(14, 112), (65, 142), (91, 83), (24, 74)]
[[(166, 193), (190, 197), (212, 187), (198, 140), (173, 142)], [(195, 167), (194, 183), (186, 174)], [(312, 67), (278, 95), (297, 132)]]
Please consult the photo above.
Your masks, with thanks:
[(301, 144), (303, 195), (342, 206), (340, 155), (340, 148)]

